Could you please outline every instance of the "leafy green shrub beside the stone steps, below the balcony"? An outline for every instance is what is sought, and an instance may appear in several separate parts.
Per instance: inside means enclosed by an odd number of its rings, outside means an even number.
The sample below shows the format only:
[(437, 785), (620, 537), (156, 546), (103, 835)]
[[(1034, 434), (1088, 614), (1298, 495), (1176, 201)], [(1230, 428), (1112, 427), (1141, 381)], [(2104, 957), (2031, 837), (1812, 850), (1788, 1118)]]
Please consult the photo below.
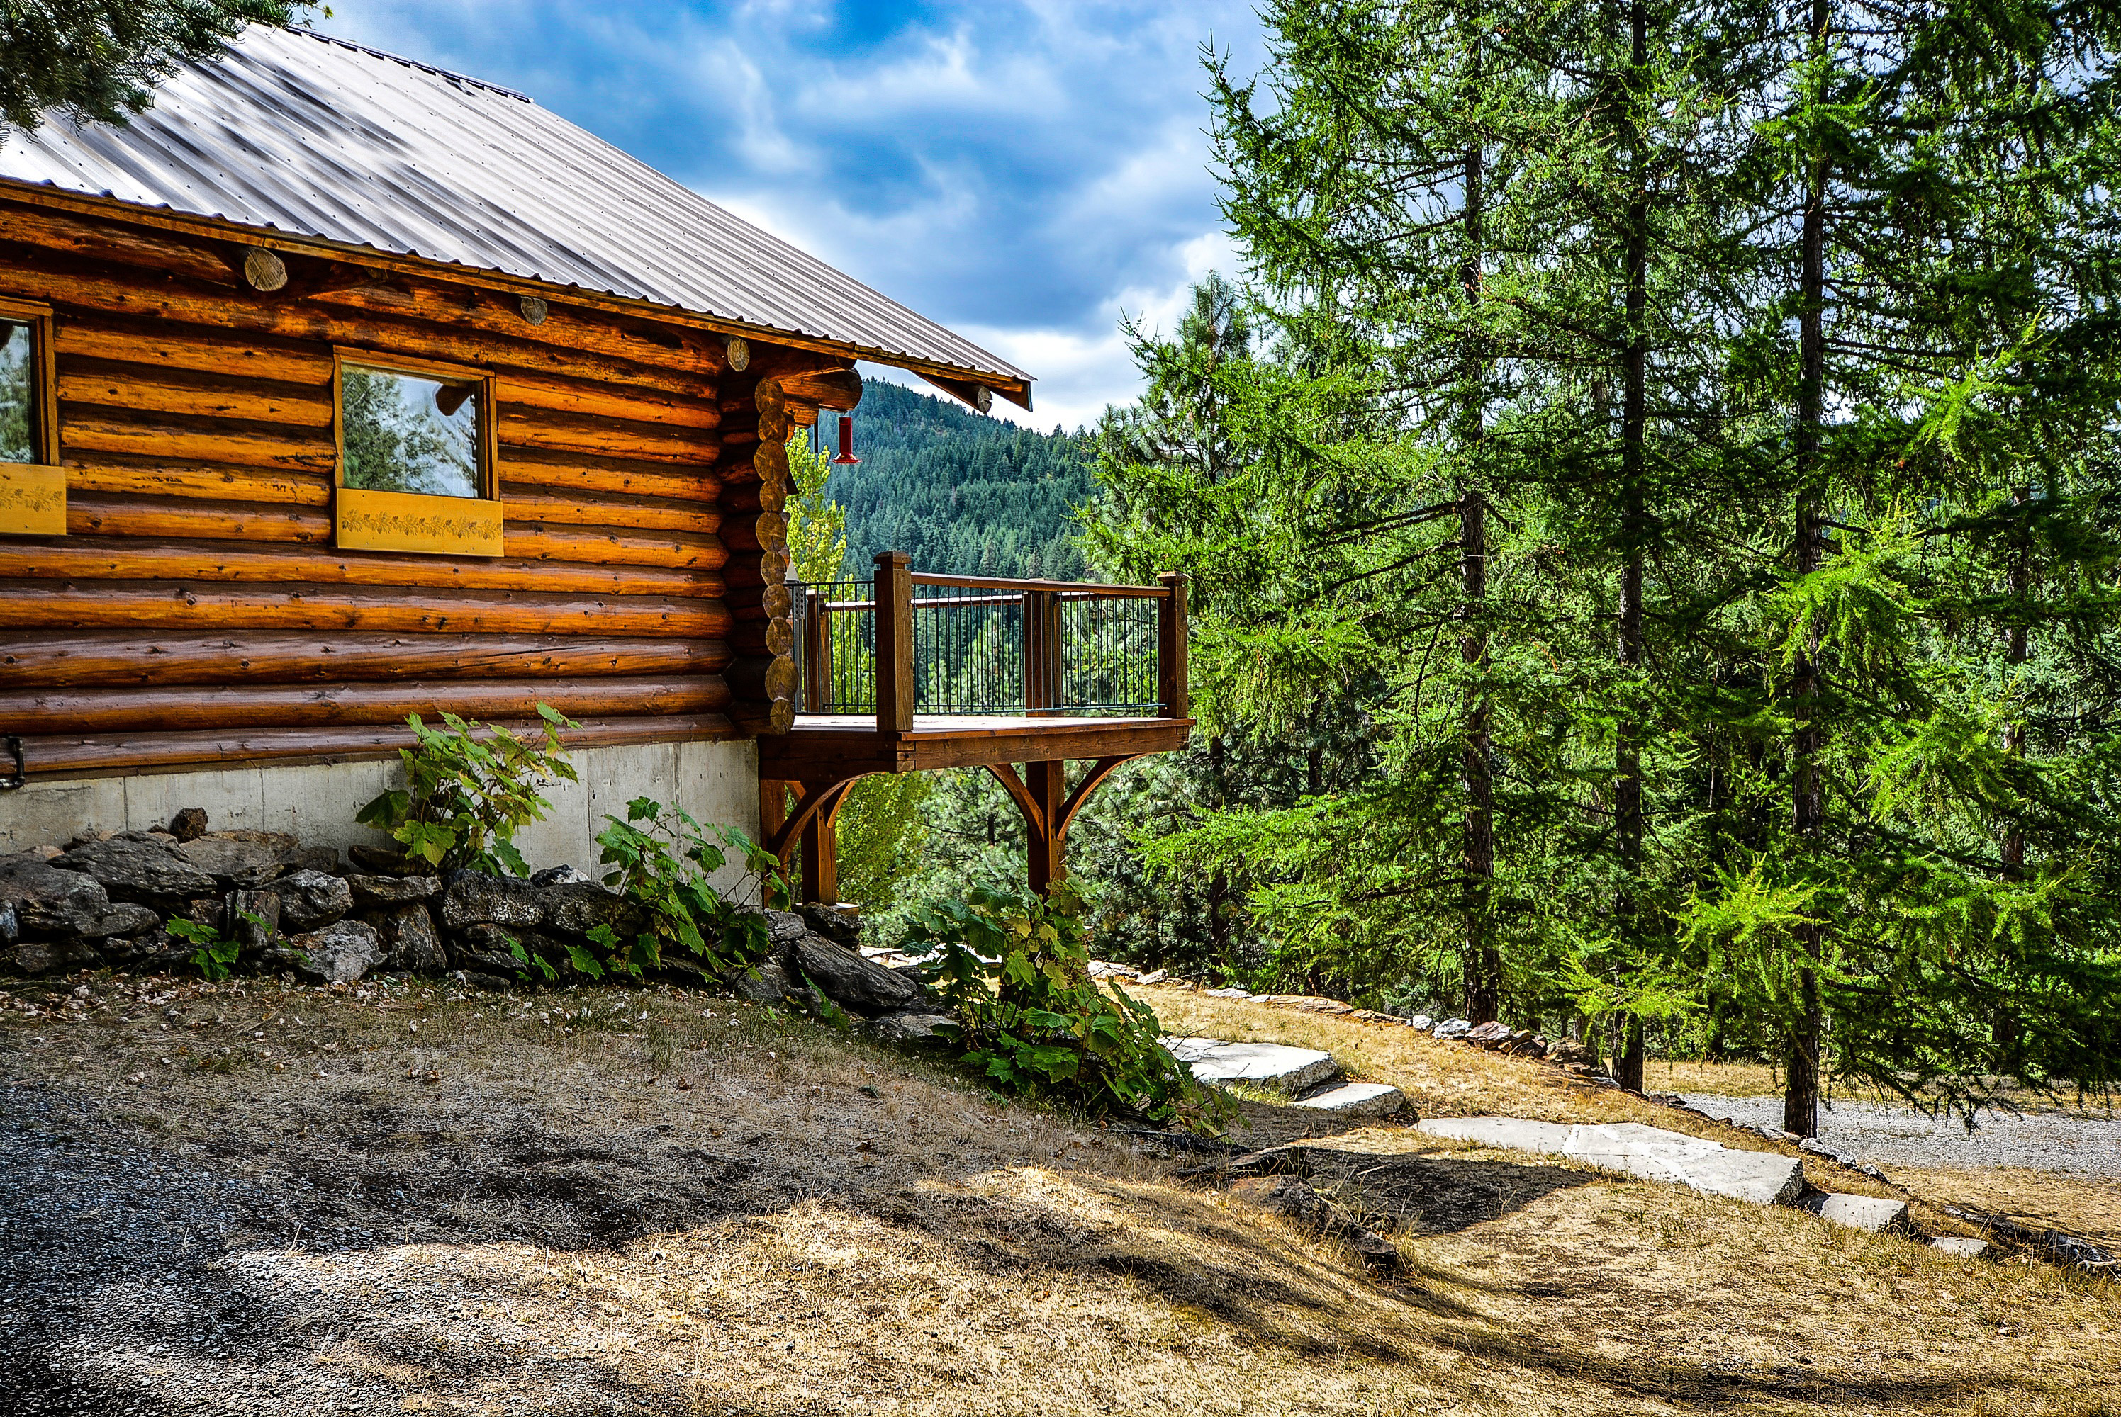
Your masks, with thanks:
[(908, 948), (933, 952), (931, 984), (963, 1022), (963, 1061), (1001, 1092), (1090, 1116), (1213, 1133), (1232, 1105), (1158, 1042), (1150, 1005), (1090, 978), (1082, 902), (974, 887), (912, 916)]

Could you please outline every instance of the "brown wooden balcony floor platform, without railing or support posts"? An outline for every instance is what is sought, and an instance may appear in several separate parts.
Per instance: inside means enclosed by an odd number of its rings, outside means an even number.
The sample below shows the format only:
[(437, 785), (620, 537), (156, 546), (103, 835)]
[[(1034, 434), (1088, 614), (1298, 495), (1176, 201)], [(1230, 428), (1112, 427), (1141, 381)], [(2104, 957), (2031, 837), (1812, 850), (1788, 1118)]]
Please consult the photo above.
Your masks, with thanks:
[(1186, 747), (1192, 719), (1073, 719), (1058, 715), (916, 713), (906, 732), (878, 732), (876, 715), (800, 713), (759, 738), (759, 776), (821, 783), (867, 772), (986, 768), (1069, 757), (1139, 757)]

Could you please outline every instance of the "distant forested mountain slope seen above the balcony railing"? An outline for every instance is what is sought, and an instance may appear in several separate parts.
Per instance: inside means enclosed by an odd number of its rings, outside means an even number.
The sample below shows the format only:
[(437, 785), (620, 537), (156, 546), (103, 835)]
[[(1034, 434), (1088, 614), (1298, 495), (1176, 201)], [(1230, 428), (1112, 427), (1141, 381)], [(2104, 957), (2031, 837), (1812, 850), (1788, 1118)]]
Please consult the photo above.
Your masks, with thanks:
[(916, 571), (1077, 579), (1071, 518), (1090, 496), (1088, 445), (872, 380), (855, 412), (861, 462), (827, 482), (846, 509), (848, 573), (906, 552)]

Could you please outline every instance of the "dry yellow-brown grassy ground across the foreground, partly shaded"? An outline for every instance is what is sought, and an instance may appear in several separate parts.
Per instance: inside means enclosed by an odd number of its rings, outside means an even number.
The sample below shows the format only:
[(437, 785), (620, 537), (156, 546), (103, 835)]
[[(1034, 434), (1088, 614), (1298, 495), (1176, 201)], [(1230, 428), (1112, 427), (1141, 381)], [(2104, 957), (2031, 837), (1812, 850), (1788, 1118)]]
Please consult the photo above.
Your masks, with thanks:
[[(2110, 1281), (1391, 1126), (1319, 1158), (1398, 1224), (1370, 1277), (728, 999), (8, 989), (0, 1413), (2121, 1413)], [(1326, 1033), (1463, 1109), (1642, 1107)]]

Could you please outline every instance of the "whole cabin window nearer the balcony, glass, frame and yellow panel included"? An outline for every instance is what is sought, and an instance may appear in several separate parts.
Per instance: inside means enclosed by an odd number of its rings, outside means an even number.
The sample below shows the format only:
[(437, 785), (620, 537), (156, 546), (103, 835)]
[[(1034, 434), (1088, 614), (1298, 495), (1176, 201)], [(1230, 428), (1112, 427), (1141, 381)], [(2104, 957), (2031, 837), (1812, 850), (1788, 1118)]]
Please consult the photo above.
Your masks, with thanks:
[(346, 350), (337, 363), (339, 545), (501, 556), (492, 375)]

